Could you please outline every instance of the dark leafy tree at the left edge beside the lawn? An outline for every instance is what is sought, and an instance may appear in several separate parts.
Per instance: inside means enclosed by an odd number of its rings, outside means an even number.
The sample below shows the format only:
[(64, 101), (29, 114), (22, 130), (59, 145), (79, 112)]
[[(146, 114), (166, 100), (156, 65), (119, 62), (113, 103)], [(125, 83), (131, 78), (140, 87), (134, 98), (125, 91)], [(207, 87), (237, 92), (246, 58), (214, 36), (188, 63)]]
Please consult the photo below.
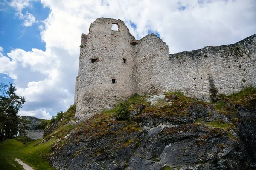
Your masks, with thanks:
[(18, 115), (19, 109), (25, 103), (23, 96), (18, 96), (15, 86), (0, 84), (2, 94), (0, 95), (0, 132), (4, 139), (10, 139), (17, 135), (20, 130), (21, 118)]

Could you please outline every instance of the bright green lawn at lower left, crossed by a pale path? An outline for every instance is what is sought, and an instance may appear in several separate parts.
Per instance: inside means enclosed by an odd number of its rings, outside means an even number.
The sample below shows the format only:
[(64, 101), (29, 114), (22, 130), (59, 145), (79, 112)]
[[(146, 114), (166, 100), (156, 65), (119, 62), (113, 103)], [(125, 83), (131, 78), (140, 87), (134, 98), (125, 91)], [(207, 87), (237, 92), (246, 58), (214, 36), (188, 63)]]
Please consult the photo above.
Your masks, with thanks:
[[(21, 142), (19, 142), (21, 141)], [(50, 147), (53, 142), (46, 142), (36, 145), (41, 140), (27, 142), (27, 146), (22, 143), (23, 138), (8, 139), (0, 142), (0, 167), (3, 170), (22, 170), (23, 168), (15, 161), (20, 159), (35, 170), (55, 170), (47, 157), (50, 154)]]

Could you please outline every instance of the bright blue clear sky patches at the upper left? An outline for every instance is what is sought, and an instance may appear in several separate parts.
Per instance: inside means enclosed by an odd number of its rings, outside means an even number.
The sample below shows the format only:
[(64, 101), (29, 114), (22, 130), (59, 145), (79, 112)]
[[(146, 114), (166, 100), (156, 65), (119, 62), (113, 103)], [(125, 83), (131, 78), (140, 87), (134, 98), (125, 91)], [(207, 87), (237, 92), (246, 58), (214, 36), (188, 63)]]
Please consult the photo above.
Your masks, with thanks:
[[(16, 48), (25, 51), (31, 51), (32, 48), (45, 50), (46, 44), (41, 40), (41, 31), (38, 26), (49, 16), (50, 9), (44, 8), (40, 1), (32, 2), (31, 6), (24, 8), (24, 10), (33, 14), (38, 19), (38, 23), (24, 27), (22, 26), (23, 20), (17, 17), (15, 8), (8, 5), (10, 2), (6, 1), (0, 5), (0, 23), (4, 23), (0, 24), (0, 46), (4, 49), (2, 54), (7, 56), (7, 52)], [(9, 84), (13, 82), (13, 79), (0, 73), (0, 82)]]

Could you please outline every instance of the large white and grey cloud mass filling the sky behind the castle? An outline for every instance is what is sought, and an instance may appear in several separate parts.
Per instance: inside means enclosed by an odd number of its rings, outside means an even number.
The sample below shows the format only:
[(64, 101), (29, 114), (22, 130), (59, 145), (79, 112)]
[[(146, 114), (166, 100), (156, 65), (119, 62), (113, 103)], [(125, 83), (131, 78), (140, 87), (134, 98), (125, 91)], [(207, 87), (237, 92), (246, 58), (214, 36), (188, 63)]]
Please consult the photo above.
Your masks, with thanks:
[[(31, 0), (13, 0), (17, 12)], [(46, 50), (14, 49), (0, 53), (0, 73), (15, 79), (18, 93), (26, 97), (22, 115), (49, 118), (73, 103), (81, 33), (99, 17), (124, 20), (137, 39), (160, 35), (170, 53), (235, 43), (256, 33), (255, 0), (41, 0), (51, 12), (40, 22)], [(36, 22), (22, 13), (24, 26)], [(26, 19), (25, 19), (26, 18)], [(39, 24), (39, 23), (38, 23)], [(7, 51), (6, 51), (7, 52)], [(10, 59), (11, 58), (11, 59)]]

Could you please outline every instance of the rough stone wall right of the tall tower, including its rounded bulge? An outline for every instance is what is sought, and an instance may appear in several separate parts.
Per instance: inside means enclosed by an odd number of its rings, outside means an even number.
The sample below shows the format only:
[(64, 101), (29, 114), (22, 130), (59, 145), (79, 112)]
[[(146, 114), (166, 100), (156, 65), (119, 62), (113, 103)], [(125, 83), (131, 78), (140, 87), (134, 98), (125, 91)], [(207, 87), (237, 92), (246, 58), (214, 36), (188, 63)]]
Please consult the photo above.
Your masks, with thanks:
[(210, 88), (232, 94), (256, 85), (256, 35), (232, 45), (167, 55), (167, 45), (149, 34), (140, 40), (136, 50), (139, 94), (181, 91), (210, 101)]

